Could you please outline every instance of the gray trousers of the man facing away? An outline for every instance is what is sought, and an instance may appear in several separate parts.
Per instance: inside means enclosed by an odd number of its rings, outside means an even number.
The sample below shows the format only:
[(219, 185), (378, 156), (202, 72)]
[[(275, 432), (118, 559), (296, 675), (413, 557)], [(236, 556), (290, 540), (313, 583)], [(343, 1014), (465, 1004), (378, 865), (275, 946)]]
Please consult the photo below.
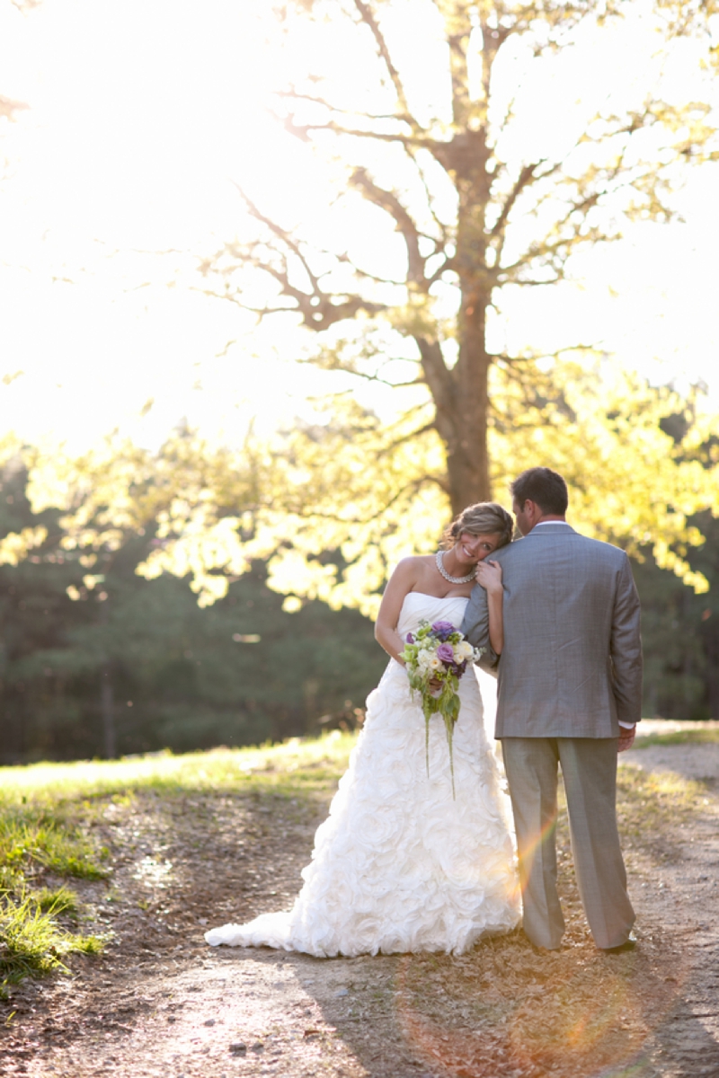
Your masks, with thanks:
[(564, 932), (556, 889), (557, 765), (569, 811), (571, 852), (584, 913), (599, 948), (630, 935), (634, 910), (617, 830), (617, 740), (503, 737), (520, 855), (525, 935), (554, 950)]

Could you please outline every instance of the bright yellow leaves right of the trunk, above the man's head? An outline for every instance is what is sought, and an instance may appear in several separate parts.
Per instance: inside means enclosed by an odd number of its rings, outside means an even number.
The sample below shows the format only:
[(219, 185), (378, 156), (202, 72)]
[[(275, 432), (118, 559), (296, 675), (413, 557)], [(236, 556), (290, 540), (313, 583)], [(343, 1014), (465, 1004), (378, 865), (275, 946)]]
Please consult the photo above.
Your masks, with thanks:
[[(617, 543), (636, 561), (647, 556), (695, 592), (711, 507), (719, 506), (719, 468), (710, 450), (716, 418), (693, 395), (605, 363), (594, 370), (556, 361), (544, 382), (522, 385), (497, 371), (495, 475), (506, 486), (542, 461), (569, 486), (570, 522), (596, 539)], [(667, 425), (681, 417), (680, 437)], [(703, 513), (703, 527), (692, 520)]]

